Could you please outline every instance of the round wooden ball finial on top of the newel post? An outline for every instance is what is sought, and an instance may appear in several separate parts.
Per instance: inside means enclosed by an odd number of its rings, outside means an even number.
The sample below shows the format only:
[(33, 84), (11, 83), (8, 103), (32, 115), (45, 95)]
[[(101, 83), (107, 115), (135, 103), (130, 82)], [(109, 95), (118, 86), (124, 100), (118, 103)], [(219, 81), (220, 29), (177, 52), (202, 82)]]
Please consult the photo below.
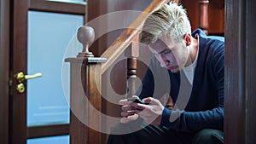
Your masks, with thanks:
[(89, 45), (94, 42), (95, 32), (90, 26), (82, 26), (79, 28), (77, 35), (79, 42), (83, 43), (84, 49), (82, 53), (79, 53), (79, 57), (93, 57), (92, 53), (89, 51)]

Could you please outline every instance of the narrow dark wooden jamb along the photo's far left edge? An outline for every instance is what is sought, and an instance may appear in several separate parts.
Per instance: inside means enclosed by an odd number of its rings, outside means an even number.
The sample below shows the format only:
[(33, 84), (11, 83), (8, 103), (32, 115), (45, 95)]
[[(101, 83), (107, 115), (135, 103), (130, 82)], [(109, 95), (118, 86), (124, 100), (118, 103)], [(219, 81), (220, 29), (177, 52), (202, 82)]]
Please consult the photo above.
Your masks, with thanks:
[(0, 141), (9, 144), (9, 0), (0, 2)]

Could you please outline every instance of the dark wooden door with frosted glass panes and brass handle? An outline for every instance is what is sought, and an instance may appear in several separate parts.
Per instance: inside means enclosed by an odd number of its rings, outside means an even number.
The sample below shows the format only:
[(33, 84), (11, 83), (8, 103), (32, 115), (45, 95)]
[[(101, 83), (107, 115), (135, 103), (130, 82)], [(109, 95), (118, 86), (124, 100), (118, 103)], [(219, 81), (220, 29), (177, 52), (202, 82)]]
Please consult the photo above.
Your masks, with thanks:
[[(64, 61), (60, 57), (69, 43), (67, 37), (73, 37), (84, 25), (86, 3), (83, 0), (12, 0), (10, 11), (9, 143), (55, 143), (55, 140), (69, 143), (69, 108), (65, 97), (60, 95), (61, 83), (56, 81), (61, 82), (59, 64)], [(16, 79), (19, 72), (25, 75), (41, 72), (42, 77), (19, 82)], [(58, 100), (50, 99), (55, 97)]]

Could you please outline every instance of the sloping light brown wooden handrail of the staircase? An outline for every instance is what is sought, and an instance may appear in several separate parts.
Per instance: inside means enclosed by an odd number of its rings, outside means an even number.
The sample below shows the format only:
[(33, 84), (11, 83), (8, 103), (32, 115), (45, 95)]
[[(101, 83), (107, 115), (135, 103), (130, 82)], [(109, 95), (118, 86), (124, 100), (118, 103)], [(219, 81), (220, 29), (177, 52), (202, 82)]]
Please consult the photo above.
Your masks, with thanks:
[(133, 39), (139, 35), (143, 27), (143, 22), (155, 9), (159, 9), (164, 3), (168, 3), (170, 0), (153, 0), (149, 6), (144, 9), (143, 13), (140, 14), (136, 20), (123, 32), (102, 54), (101, 57), (107, 58), (107, 62), (102, 64), (102, 72), (104, 73), (109, 66), (111, 66), (119, 55), (121, 55), (125, 49), (131, 44)]

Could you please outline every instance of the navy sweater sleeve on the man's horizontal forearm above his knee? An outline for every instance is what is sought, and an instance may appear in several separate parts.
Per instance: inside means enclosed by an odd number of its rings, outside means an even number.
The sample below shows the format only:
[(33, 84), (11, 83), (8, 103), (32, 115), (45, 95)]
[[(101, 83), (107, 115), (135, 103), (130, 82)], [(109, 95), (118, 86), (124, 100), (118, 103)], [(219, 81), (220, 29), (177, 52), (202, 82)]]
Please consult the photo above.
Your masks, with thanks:
[(223, 120), (224, 107), (205, 112), (172, 111), (165, 107), (160, 125), (177, 131), (223, 130)]

